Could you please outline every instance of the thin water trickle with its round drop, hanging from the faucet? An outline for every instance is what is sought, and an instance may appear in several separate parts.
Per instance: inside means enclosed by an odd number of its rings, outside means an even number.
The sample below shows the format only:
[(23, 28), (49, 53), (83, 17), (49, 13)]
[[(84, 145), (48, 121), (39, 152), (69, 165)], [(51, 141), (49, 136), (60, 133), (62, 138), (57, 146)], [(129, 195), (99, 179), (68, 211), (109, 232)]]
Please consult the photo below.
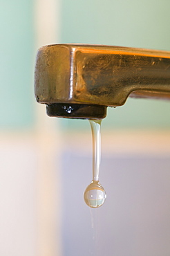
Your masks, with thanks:
[(98, 208), (103, 205), (106, 199), (106, 192), (99, 181), (100, 158), (101, 158), (101, 120), (89, 120), (93, 137), (93, 180), (84, 191), (84, 201), (91, 208)]

